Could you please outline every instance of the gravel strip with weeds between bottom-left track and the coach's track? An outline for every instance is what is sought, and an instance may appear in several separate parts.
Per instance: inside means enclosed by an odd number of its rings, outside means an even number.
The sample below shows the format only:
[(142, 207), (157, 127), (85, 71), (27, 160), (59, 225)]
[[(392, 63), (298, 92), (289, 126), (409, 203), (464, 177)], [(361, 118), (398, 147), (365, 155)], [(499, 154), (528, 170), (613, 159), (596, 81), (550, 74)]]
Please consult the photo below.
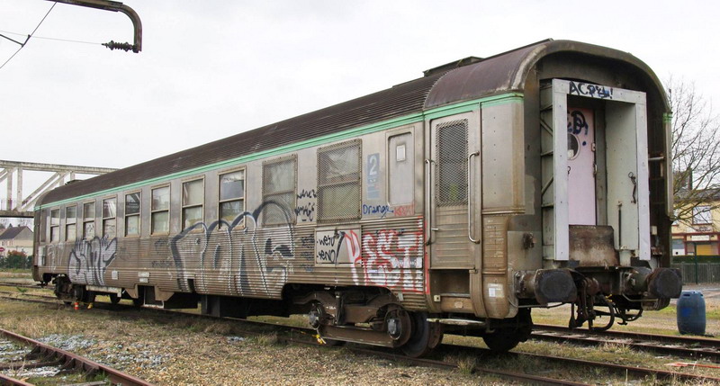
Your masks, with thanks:
[(141, 310), (118, 317), (101, 310), (0, 300), (0, 327), (161, 385), (476, 384), (479, 380), (469, 373), (408, 366), (343, 349), (286, 346), (272, 332), (244, 336), (237, 324), (159, 318)]

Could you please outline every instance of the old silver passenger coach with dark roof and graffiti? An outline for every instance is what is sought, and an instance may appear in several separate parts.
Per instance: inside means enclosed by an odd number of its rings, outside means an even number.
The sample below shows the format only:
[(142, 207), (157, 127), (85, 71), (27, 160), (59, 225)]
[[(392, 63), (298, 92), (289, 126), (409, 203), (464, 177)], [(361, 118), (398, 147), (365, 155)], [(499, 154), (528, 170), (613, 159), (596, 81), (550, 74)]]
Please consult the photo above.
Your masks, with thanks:
[[(608, 328), (680, 295), (670, 110), (625, 52), (545, 40), (47, 193), (35, 280), (66, 301), (244, 318), (329, 342), (507, 350), (530, 310)], [(121, 150), (109, 157), (122, 157)]]

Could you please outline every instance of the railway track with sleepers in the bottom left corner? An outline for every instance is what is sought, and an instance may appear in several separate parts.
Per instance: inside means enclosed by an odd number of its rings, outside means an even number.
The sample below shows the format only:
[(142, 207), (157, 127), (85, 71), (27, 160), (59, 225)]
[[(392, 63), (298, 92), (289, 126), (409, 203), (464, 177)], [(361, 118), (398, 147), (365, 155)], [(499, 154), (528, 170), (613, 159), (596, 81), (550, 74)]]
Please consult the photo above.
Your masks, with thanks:
[[(123, 386), (152, 385), (130, 374), (115, 370), (110, 366), (98, 364), (84, 356), (46, 345), (12, 331), (0, 328), (0, 337), (0, 358), (3, 361), (3, 363), (0, 363), (0, 383), (2, 384), (32, 385), (32, 383), (16, 378), (17, 374), (20, 374), (23, 378), (28, 376), (40, 377), (45, 383), (53, 383), (58, 381), (55, 379), (56, 376), (81, 372), (85, 374), (85, 378), (103, 374), (111, 384), (121, 384)], [(35, 371), (28, 373), (31, 369)], [(107, 382), (84, 382), (82, 384), (85, 386), (104, 385)]]

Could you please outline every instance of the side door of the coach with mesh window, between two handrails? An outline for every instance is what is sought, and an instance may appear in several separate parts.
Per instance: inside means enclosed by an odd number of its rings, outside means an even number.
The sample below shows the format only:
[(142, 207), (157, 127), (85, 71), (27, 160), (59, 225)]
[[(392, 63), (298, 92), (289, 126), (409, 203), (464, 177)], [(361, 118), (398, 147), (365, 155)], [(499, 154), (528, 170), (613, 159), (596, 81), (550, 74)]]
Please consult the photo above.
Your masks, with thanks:
[(478, 113), (431, 121), (430, 267), (473, 269), (481, 238)]

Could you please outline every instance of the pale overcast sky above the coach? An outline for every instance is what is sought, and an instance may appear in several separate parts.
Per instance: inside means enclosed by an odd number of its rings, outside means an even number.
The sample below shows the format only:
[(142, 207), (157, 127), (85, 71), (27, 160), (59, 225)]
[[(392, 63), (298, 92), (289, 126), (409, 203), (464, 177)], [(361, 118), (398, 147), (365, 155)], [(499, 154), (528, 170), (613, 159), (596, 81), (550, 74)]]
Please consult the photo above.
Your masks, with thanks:
[[(98, 44), (132, 42), (126, 15), (57, 4), (0, 68), (0, 159), (131, 166), (547, 38), (630, 52), (720, 103), (713, 1), (123, 3), (142, 52)], [(24, 41), (53, 4), (0, 0), (0, 34)], [(18, 48), (0, 37), (0, 66)]]

